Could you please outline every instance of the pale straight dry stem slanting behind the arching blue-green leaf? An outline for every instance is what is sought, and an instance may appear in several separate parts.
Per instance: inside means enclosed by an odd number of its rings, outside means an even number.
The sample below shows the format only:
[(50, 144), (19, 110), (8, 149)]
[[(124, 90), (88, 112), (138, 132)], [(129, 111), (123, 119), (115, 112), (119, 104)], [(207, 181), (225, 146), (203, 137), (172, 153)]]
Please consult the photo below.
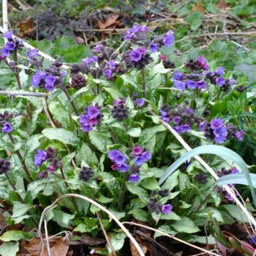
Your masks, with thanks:
[[(154, 112), (152, 112), (152, 110), (150, 110), (150, 114), (156, 115)], [(169, 125), (167, 122), (164, 122), (161, 119), (160, 119), (160, 122), (164, 125), (164, 127), (166, 127), (167, 130), (171, 131), (172, 135), (174, 135), (174, 137), (177, 139), (177, 141), (180, 142), (180, 144), (185, 148), (185, 150), (187, 150), (187, 151), (192, 150), (192, 148), (184, 141), (184, 139), (181, 138), (181, 136), (179, 134), (177, 134), (177, 132), (174, 129), (172, 129), (171, 125)], [(219, 177), (213, 171), (213, 169), (199, 155), (194, 156), (194, 158), (210, 173), (210, 175), (212, 175), (214, 177), (214, 179), (216, 179), (216, 180), (219, 179)], [(242, 204), (240, 202), (240, 200), (238, 200), (236, 194), (234, 193), (233, 189), (229, 187), (229, 185), (224, 185), (222, 187), (225, 189), (226, 192), (228, 192), (228, 194), (235, 201), (235, 203), (238, 205), (238, 207), (241, 208), (243, 213), (245, 213), (246, 217), (248, 218), (249, 222), (251, 222), (254, 225), (254, 229), (256, 229), (256, 221), (255, 221), (254, 217), (246, 209), (246, 207), (244, 207), (245, 203), (243, 202), (243, 204)], [(254, 230), (254, 233), (255, 233), (255, 230)]]

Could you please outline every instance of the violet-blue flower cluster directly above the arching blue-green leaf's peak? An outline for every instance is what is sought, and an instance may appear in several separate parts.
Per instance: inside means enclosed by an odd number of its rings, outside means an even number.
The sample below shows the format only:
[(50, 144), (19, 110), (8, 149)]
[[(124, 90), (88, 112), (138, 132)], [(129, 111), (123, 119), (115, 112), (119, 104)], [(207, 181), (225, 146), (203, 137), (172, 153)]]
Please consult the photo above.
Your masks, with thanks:
[(238, 141), (243, 139), (243, 130), (238, 131), (237, 127), (232, 123), (224, 124), (221, 118), (214, 118), (207, 123), (200, 122), (200, 131), (204, 131), (205, 137), (217, 143), (224, 143), (227, 139), (237, 138)]

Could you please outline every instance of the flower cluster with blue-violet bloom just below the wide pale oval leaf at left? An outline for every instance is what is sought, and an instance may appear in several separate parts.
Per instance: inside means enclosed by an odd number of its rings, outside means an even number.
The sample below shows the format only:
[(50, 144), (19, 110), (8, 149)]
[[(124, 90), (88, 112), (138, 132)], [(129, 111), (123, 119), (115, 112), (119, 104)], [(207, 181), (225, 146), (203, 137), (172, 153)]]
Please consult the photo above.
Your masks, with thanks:
[(40, 167), (43, 162), (48, 162), (49, 166), (46, 170), (43, 170), (38, 175), (39, 179), (44, 179), (48, 177), (48, 172), (53, 172), (55, 169), (61, 168), (62, 164), (57, 159), (55, 148), (47, 147), (46, 150), (38, 150), (35, 154), (34, 164), (36, 167)]

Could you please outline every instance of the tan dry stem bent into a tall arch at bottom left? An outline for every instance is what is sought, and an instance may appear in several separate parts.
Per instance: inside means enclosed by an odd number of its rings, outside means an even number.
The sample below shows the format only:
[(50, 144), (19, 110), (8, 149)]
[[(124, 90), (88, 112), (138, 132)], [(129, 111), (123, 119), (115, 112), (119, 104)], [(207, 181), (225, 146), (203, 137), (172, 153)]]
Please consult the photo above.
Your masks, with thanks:
[(39, 222), (39, 226), (38, 226), (38, 235), (40, 237), (40, 240), (42, 242), (44, 242), (44, 238), (42, 236), (42, 224), (43, 224), (43, 220), (44, 220), (44, 216), (46, 215), (47, 210), (51, 209), (55, 204), (57, 204), (61, 199), (65, 198), (65, 197), (76, 197), (85, 201), (88, 201), (90, 204), (95, 205), (96, 207), (100, 208), (101, 210), (103, 210), (105, 213), (107, 213), (110, 217), (113, 218), (113, 220), (115, 222), (117, 222), (118, 226), (123, 230), (123, 232), (126, 234), (127, 237), (130, 238), (131, 242), (133, 242), (134, 246), (136, 247), (136, 249), (138, 250), (139, 255), (141, 256), (145, 256), (141, 247), (139, 246), (138, 242), (134, 239), (133, 236), (131, 236), (131, 233), (125, 228), (125, 226), (118, 220), (117, 217), (114, 216), (114, 214), (112, 212), (110, 212), (108, 209), (106, 209), (105, 207), (102, 207), (102, 205), (98, 204), (96, 201), (89, 199), (86, 196), (81, 196), (81, 195), (77, 195), (77, 194), (67, 194), (67, 195), (63, 195), (61, 197), (59, 197), (58, 199), (56, 199), (51, 205), (49, 205), (48, 207), (46, 207), (41, 215), (40, 218), (40, 222)]

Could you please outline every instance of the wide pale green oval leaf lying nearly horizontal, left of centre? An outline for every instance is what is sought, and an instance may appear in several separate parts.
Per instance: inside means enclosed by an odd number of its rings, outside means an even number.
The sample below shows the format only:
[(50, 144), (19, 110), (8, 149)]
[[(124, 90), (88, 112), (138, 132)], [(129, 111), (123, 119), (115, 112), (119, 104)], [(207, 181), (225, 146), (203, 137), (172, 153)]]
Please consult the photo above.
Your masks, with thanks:
[(79, 143), (79, 139), (72, 133), (72, 131), (63, 128), (46, 128), (42, 131), (42, 134), (48, 139), (56, 139), (63, 144), (71, 144), (75, 146)]

